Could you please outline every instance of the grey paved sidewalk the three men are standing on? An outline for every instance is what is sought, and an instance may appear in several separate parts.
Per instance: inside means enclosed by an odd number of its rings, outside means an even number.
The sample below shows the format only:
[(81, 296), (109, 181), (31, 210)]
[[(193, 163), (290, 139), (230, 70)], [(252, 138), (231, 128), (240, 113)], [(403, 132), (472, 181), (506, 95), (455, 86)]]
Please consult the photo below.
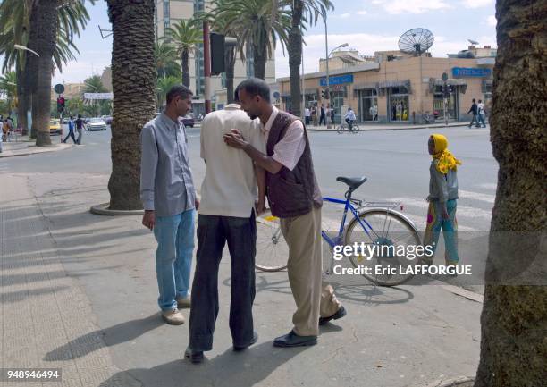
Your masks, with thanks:
[[(322, 328), (315, 347), (276, 349), (294, 301), (286, 272), (257, 272), (259, 340), (234, 353), (227, 254), (214, 350), (191, 365), (182, 360), (188, 324), (158, 315), (156, 242), (140, 216), (88, 213), (107, 201), (107, 175), (0, 179), (2, 366), (62, 367), (63, 384), (46, 387), (420, 387), (475, 374), (482, 304), (438, 285), (386, 289), (332, 277), (348, 315)], [(13, 383), (23, 385), (40, 384)]]

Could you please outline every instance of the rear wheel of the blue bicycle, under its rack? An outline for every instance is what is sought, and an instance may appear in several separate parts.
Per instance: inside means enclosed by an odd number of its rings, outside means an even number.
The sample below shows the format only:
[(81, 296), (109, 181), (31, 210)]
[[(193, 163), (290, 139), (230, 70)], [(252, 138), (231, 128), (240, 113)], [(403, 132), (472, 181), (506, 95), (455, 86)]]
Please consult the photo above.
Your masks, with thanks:
[(359, 219), (366, 224), (368, 233), (354, 218), (344, 237), (345, 245), (364, 244), (362, 255), (349, 257), (351, 265), (370, 268), (362, 275), (377, 285), (395, 286), (410, 280), (413, 273), (408, 273), (408, 266), (419, 265), (416, 247), (422, 244), (414, 224), (388, 208), (366, 210)]

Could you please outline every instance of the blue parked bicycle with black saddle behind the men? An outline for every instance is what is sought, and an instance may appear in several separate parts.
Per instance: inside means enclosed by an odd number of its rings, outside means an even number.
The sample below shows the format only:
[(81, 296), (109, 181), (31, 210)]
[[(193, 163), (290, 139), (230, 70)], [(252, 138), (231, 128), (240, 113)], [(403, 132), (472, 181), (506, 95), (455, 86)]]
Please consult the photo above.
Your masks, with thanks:
[[(369, 255), (369, 257), (365, 257), (362, 252), (348, 255), (351, 265), (356, 269), (363, 267), (359, 273), (376, 285), (395, 286), (408, 282), (414, 275), (412, 271), (400, 274), (405, 270), (400, 270), (400, 273), (391, 273), (389, 270), (382, 269), (382, 267), (386, 267), (385, 265), (397, 264), (402, 267), (402, 265), (417, 265), (419, 262), (417, 258), (410, 259), (406, 255), (399, 257), (390, 252), (390, 247), (394, 252), (396, 246), (398, 248), (404, 246), (403, 243), (407, 241), (408, 245), (421, 246), (421, 239), (414, 223), (394, 209), (400, 207), (402, 210), (401, 204), (394, 202), (363, 203), (362, 200), (352, 198), (353, 192), (366, 181), (366, 177), (338, 177), (336, 181), (347, 184), (349, 189), (345, 193), (345, 200), (323, 198), (325, 202), (344, 205), (338, 233), (331, 238), (327, 232), (321, 231), (321, 236), (328, 243), (331, 251), (334, 251), (338, 246), (343, 250), (344, 247), (354, 246), (355, 243), (358, 245), (363, 243), (361, 246), (369, 245), (368, 251), (374, 250), (374, 246), (376, 246), (374, 251), (379, 254)], [(346, 226), (348, 212), (353, 215), (353, 219)], [(388, 250), (387, 254), (384, 249)], [(257, 218), (257, 261), (255, 263), (257, 269), (264, 272), (281, 271), (287, 267), (288, 257), (289, 247), (283, 239), (279, 218), (273, 215)], [(380, 270), (375, 269), (377, 266), (380, 266)], [(371, 267), (371, 271), (368, 272), (366, 267)], [(334, 272), (334, 257), (332, 256), (330, 267), (326, 273), (332, 274)]]

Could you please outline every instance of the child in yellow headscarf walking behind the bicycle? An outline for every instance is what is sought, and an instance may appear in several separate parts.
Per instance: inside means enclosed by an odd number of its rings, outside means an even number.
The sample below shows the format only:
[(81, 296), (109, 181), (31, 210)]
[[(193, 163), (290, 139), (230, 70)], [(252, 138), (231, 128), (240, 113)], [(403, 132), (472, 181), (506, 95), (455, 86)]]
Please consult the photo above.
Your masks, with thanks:
[[(432, 246), (434, 255), (442, 230), (446, 265), (458, 265), (457, 170), (461, 162), (450, 153), (447, 148), (448, 139), (442, 134), (433, 134), (427, 142), (427, 147), (433, 161), (429, 167), (429, 210), (424, 244)], [(426, 264), (433, 264), (433, 255), (425, 259)]]

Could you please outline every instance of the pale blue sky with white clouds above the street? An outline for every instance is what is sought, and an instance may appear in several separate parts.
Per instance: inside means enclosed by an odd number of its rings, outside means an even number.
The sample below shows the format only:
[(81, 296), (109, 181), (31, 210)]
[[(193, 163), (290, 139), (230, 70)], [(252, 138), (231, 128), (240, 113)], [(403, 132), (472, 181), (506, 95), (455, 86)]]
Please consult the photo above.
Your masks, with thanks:
[[(446, 57), (469, 46), (467, 39), (480, 46), (496, 45), (495, 0), (332, 0), (334, 10), (327, 15), (329, 51), (348, 43), (361, 55), (374, 51), (396, 50), (400, 35), (417, 27), (433, 32), (433, 56)], [(106, 2), (88, 5), (90, 21), (76, 46), (77, 61), (68, 63), (63, 73), (56, 72), (53, 83), (81, 82), (100, 75), (110, 65), (112, 37), (101, 38), (98, 26), (111, 29)], [(319, 70), (319, 58), (325, 55), (324, 22), (308, 27), (304, 37), (305, 72)], [(275, 75), (289, 76), (289, 56), (282, 46), (275, 49)]]

